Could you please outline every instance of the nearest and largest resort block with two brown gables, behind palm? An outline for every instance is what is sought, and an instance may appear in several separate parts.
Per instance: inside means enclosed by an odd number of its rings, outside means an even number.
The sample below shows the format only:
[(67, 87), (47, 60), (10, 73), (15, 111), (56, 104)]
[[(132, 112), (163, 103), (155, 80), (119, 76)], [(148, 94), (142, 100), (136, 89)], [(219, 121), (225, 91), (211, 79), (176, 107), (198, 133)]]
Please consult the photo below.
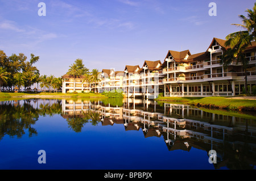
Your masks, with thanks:
[[(255, 43), (245, 51), (249, 60), (247, 86), (256, 84)], [(191, 54), (189, 50), (169, 50), (163, 62), (165, 96), (234, 96), (242, 94), (245, 70), (240, 62), (232, 62), (227, 69), (220, 64), (227, 49), (225, 40), (213, 38), (206, 52)]]

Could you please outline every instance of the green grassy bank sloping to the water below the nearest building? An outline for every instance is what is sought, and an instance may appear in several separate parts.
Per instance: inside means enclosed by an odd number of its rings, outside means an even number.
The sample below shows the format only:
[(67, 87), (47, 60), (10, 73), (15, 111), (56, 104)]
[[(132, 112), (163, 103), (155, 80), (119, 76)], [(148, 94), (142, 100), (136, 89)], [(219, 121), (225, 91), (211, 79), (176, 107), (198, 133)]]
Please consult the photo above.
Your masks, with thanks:
[(191, 106), (214, 108), (220, 110), (233, 111), (256, 111), (256, 100), (248, 99), (228, 99), (225, 97), (207, 97), (207, 98), (172, 98), (160, 97), (156, 100), (164, 102), (180, 102)]

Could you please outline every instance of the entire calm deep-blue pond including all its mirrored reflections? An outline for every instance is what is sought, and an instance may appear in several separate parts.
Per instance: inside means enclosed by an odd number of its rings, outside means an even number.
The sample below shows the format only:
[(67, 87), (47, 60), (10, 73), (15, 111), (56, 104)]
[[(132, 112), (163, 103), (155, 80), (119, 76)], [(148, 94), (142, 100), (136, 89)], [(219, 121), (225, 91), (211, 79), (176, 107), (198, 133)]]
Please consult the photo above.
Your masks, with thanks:
[[(0, 169), (255, 169), (256, 121), (141, 99), (0, 102)], [(39, 164), (39, 150), (46, 164)], [(217, 163), (210, 164), (209, 150)]]

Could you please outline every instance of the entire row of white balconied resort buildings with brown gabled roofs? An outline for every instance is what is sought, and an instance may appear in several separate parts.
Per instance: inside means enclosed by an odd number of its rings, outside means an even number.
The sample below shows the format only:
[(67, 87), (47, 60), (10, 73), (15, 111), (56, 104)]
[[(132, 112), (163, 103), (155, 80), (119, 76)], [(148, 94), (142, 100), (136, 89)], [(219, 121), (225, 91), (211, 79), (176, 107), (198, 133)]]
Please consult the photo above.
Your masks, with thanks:
[[(189, 50), (168, 50), (163, 63), (144, 61), (139, 65), (126, 65), (124, 71), (103, 69), (98, 82), (98, 92), (122, 89), (128, 98), (157, 98), (164, 96), (234, 96), (245, 90), (245, 69), (241, 62), (233, 61), (224, 69), (222, 54), (228, 49), (225, 40), (213, 38), (205, 52), (191, 54)], [(247, 87), (256, 85), (256, 43), (246, 48)], [(63, 92), (88, 92), (88, 83), (82, 77), (63, 76)]]

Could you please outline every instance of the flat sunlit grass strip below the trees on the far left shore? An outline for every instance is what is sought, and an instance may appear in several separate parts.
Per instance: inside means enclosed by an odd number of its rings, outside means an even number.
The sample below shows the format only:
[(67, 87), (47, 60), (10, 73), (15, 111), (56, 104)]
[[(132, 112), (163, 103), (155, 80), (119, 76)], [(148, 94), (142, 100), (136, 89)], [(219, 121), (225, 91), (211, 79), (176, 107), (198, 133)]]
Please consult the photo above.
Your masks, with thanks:
[(94, 94), (94, 93), (67, 93), (63, 94), (61, 92), (53, 92), (53, 93), (44, 93), (41, 92), (39, 94), (27, 94), (23, 92), (18, 93), (9, 93), (9, 92), (0, 92), (0, 98), (44, 98), (44, 97), (79, 97), (79, 98), (106, 98), (105, 95), (102, 94)]

